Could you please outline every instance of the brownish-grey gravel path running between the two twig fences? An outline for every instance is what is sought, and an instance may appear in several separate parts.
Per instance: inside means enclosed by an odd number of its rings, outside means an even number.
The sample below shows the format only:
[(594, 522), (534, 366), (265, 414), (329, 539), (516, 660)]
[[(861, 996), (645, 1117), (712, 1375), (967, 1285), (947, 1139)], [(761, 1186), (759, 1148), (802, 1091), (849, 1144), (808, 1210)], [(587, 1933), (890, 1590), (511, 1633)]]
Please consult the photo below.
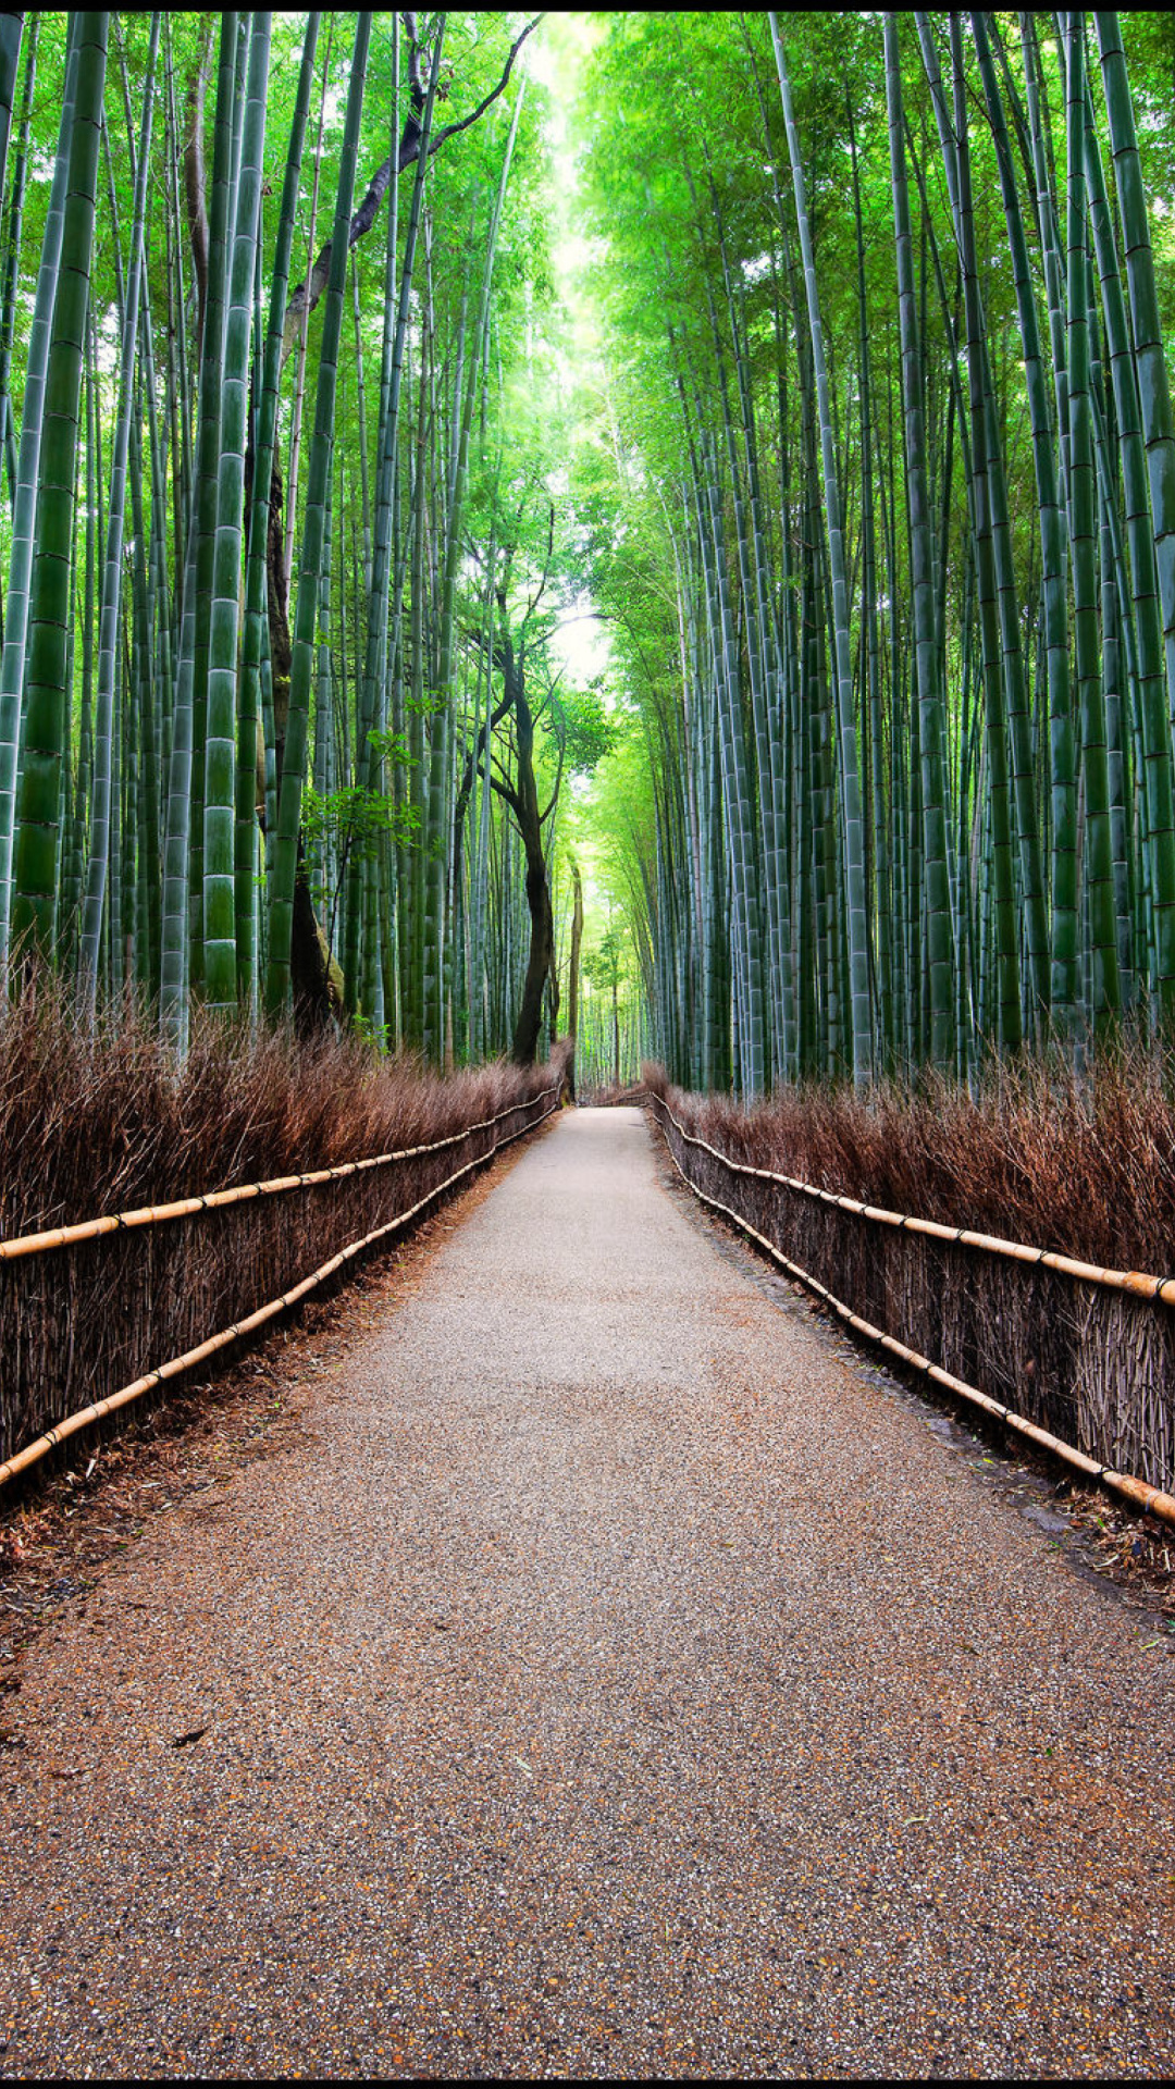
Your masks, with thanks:
[(1175, 1661), (638, 1111), (307, 1423), (6, 1700), (0, 2070), (1173, 2070)]

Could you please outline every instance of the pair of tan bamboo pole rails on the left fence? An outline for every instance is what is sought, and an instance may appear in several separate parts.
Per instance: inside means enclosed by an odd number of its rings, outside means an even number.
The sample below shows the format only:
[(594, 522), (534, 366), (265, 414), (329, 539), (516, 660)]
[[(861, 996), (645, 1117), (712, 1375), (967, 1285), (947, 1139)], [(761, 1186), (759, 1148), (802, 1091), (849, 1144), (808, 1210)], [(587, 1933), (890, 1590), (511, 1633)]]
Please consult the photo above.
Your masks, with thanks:
[[(362, 1161), (341, 1161), (337, 1168), (316, 1168), (303, 1176), (278, 1176), (272, 1182), (249, 1182), (234, 1191), (213, 1191), (209, 1197), (184, 1197), (178, 1203), (148, 1205), (138, 1212), (117, 1214), (115, 1218), (86, 1220), (77, 1226), (59, 1226), (50, 1233), (27, 1235), (19, 1241), (0, 1243), (0, 1255), (4, 1255), (4, 1249), (8, 1249), (6, 1260), (13, 1260), (15, 1255), (44, 1253), (46, 1249), (67, 1247), (71, 1241), (92, 1241), (102, 1233), (123, 1230), (125, 1226), (151, 1226), (151, 1224), (161, 1224), (169, 1218), (190, 1218), (197, 1212), (217, 1210), (224, 1207), (226, 1203), (240, 1203), (247, 1197), (278, 1195), (282, 1191), (305, 1189), (316, 1182), (339, 1180), (341, 1176), (360, 1174), (362, 1170), (370, 1168), (381, 1168), (387, 1166), (389, 1161), (418, 1159), (422, 1153), (441, 1153), (445, 1147), (460, 1145), (475, 1132), (491, 1130), (496, 1124), (502, 1124), (506, 1118), (512, 1118), (523, 1109), (531, 1111), (535, 1109), (537, 1103), (548, 1103), (548, 1109), (544, 1109), (542, 1116), (537, 1116), (533, 1122), (523, 1124), (516, 1132), (508, 1132), (504, 1139), (496, 1139), (493, 1145), (487, 1149), (487, 1153), (477, 1153), (470, 1161), (464, 1164), (464, 1168), (454, 1170), (454, 1174), (445, 1176), (443, 1182), (437, 1182), (431, 1191), (427, 1191), (424, 1197), (420, 1197), (406, 1212), (397, 1212), (395, 1218), (366, 1233), (360, 1241), (349, 1241), (347, 1247), (330, 1255), (328, 1262), (324, 1262), (318, 1270), (312, 1270), (309, 1276), (303, 1276), (301, 1283), (293, 1285), (293, 1289), (282, 1291), (280, 1297), (270, 1299), (255, 1312), (245, 1314), (240, 1320), (234, 1320), (232, 1327), (220, 1329), (220, 1333), (209, 1335), (207, 1341), (197, 1343), (182, 1356), (174, 1356), (165, 1364), (159, 1364), (155, 1370), (148, 1370), (142, 1377), (134, 1379), (130, 1385), (119, 1387), (119, 1391), (107, 1393), (105, 1400), (94, 1400), (90, 1402), (90, 1406), (77, 1408), (77, 1412), (67, 1414), (61, 1423), (54, 1423), (52, 1429), (42, 1431), (42, 1435), (38, 1435), (31, 1443), (27, 1443), (23, 1450), (15, 1452), (15, 1456), (6, 1458), (0, 1464), (0, 1487), (4, 1487), (10, 1479), (17, 1479), (17, 1475), (25, 1473), (31, 1464), (38, 1464), (42, 1458), (50, 1454), (50, 1450), (56, 1450), (59, 1443), (65, 1443), (71, 1435), (77, 1435), (79, 1429), (88, 1429), (92, 1423), (102, 1421), (102, 1416), (115, 1414), (119, 1408), (125, 1408), (132, 1402), (142, 1400), (142, 1395), (151, 1393), (157, 1385), (167, 1383), (167, 1379), (178, 1379), (184, 1370), (190, 1370), (194, 1364), (205, 1362), (205, 1358), (215, 1356), (220, 1349), (226, 1349), (232, 1341), (240, 1341), (245, 1335), (253, 1335), (259, 1327), (266, 1327), (268, 1320), (274, 1320), (280, 1312), (286, 1312), (291, 1306), (297, 1306), (303, 1297), (307, 1297), (312, 1291), (324, 1285), (347, 1262), (351, 1262), (355, 1255), (362, 1255), (364, 1249), (374, 1247), (376, 1241), (387, 1239), (391, 1233), (401, 1233), (404, 1226), (408, 1226), (414, 1218), (418, 1218), (418, 1214), (429, 1203), (433, 1203), (443, 1191), (452, 1189), (464, 1176), (473, 1174), (475, 1168), (483, 1168), (485, 1161), (493, 1159), (496, 1153), (512, 1145), (516, 1139), (525, 1139), (527, 1132), (533, 1132), (539, 1128), (539, 1124), (546, 1124), (546, 1120), (554, 1116), (554, 1111), (558, 1109), (558, 1086), (560, 1084), (554, 1082), (550, 1088), (542, 1088), (537, 1095), (531, 1095), (521, 1103), (510, 1103), (508, 1109), (500, 1109), (493, 1118), (483, 1118), (477, 1124), (466, 1124), (464, 1130), (454, 1132), (447, 1139), (435, 1139), (431, 1145), (424, 1147), (406, 1147), (399, 1153), (378, 1153)], [(556, 1101), (548, 1101), (550, 1097), (556, 1097)]]

